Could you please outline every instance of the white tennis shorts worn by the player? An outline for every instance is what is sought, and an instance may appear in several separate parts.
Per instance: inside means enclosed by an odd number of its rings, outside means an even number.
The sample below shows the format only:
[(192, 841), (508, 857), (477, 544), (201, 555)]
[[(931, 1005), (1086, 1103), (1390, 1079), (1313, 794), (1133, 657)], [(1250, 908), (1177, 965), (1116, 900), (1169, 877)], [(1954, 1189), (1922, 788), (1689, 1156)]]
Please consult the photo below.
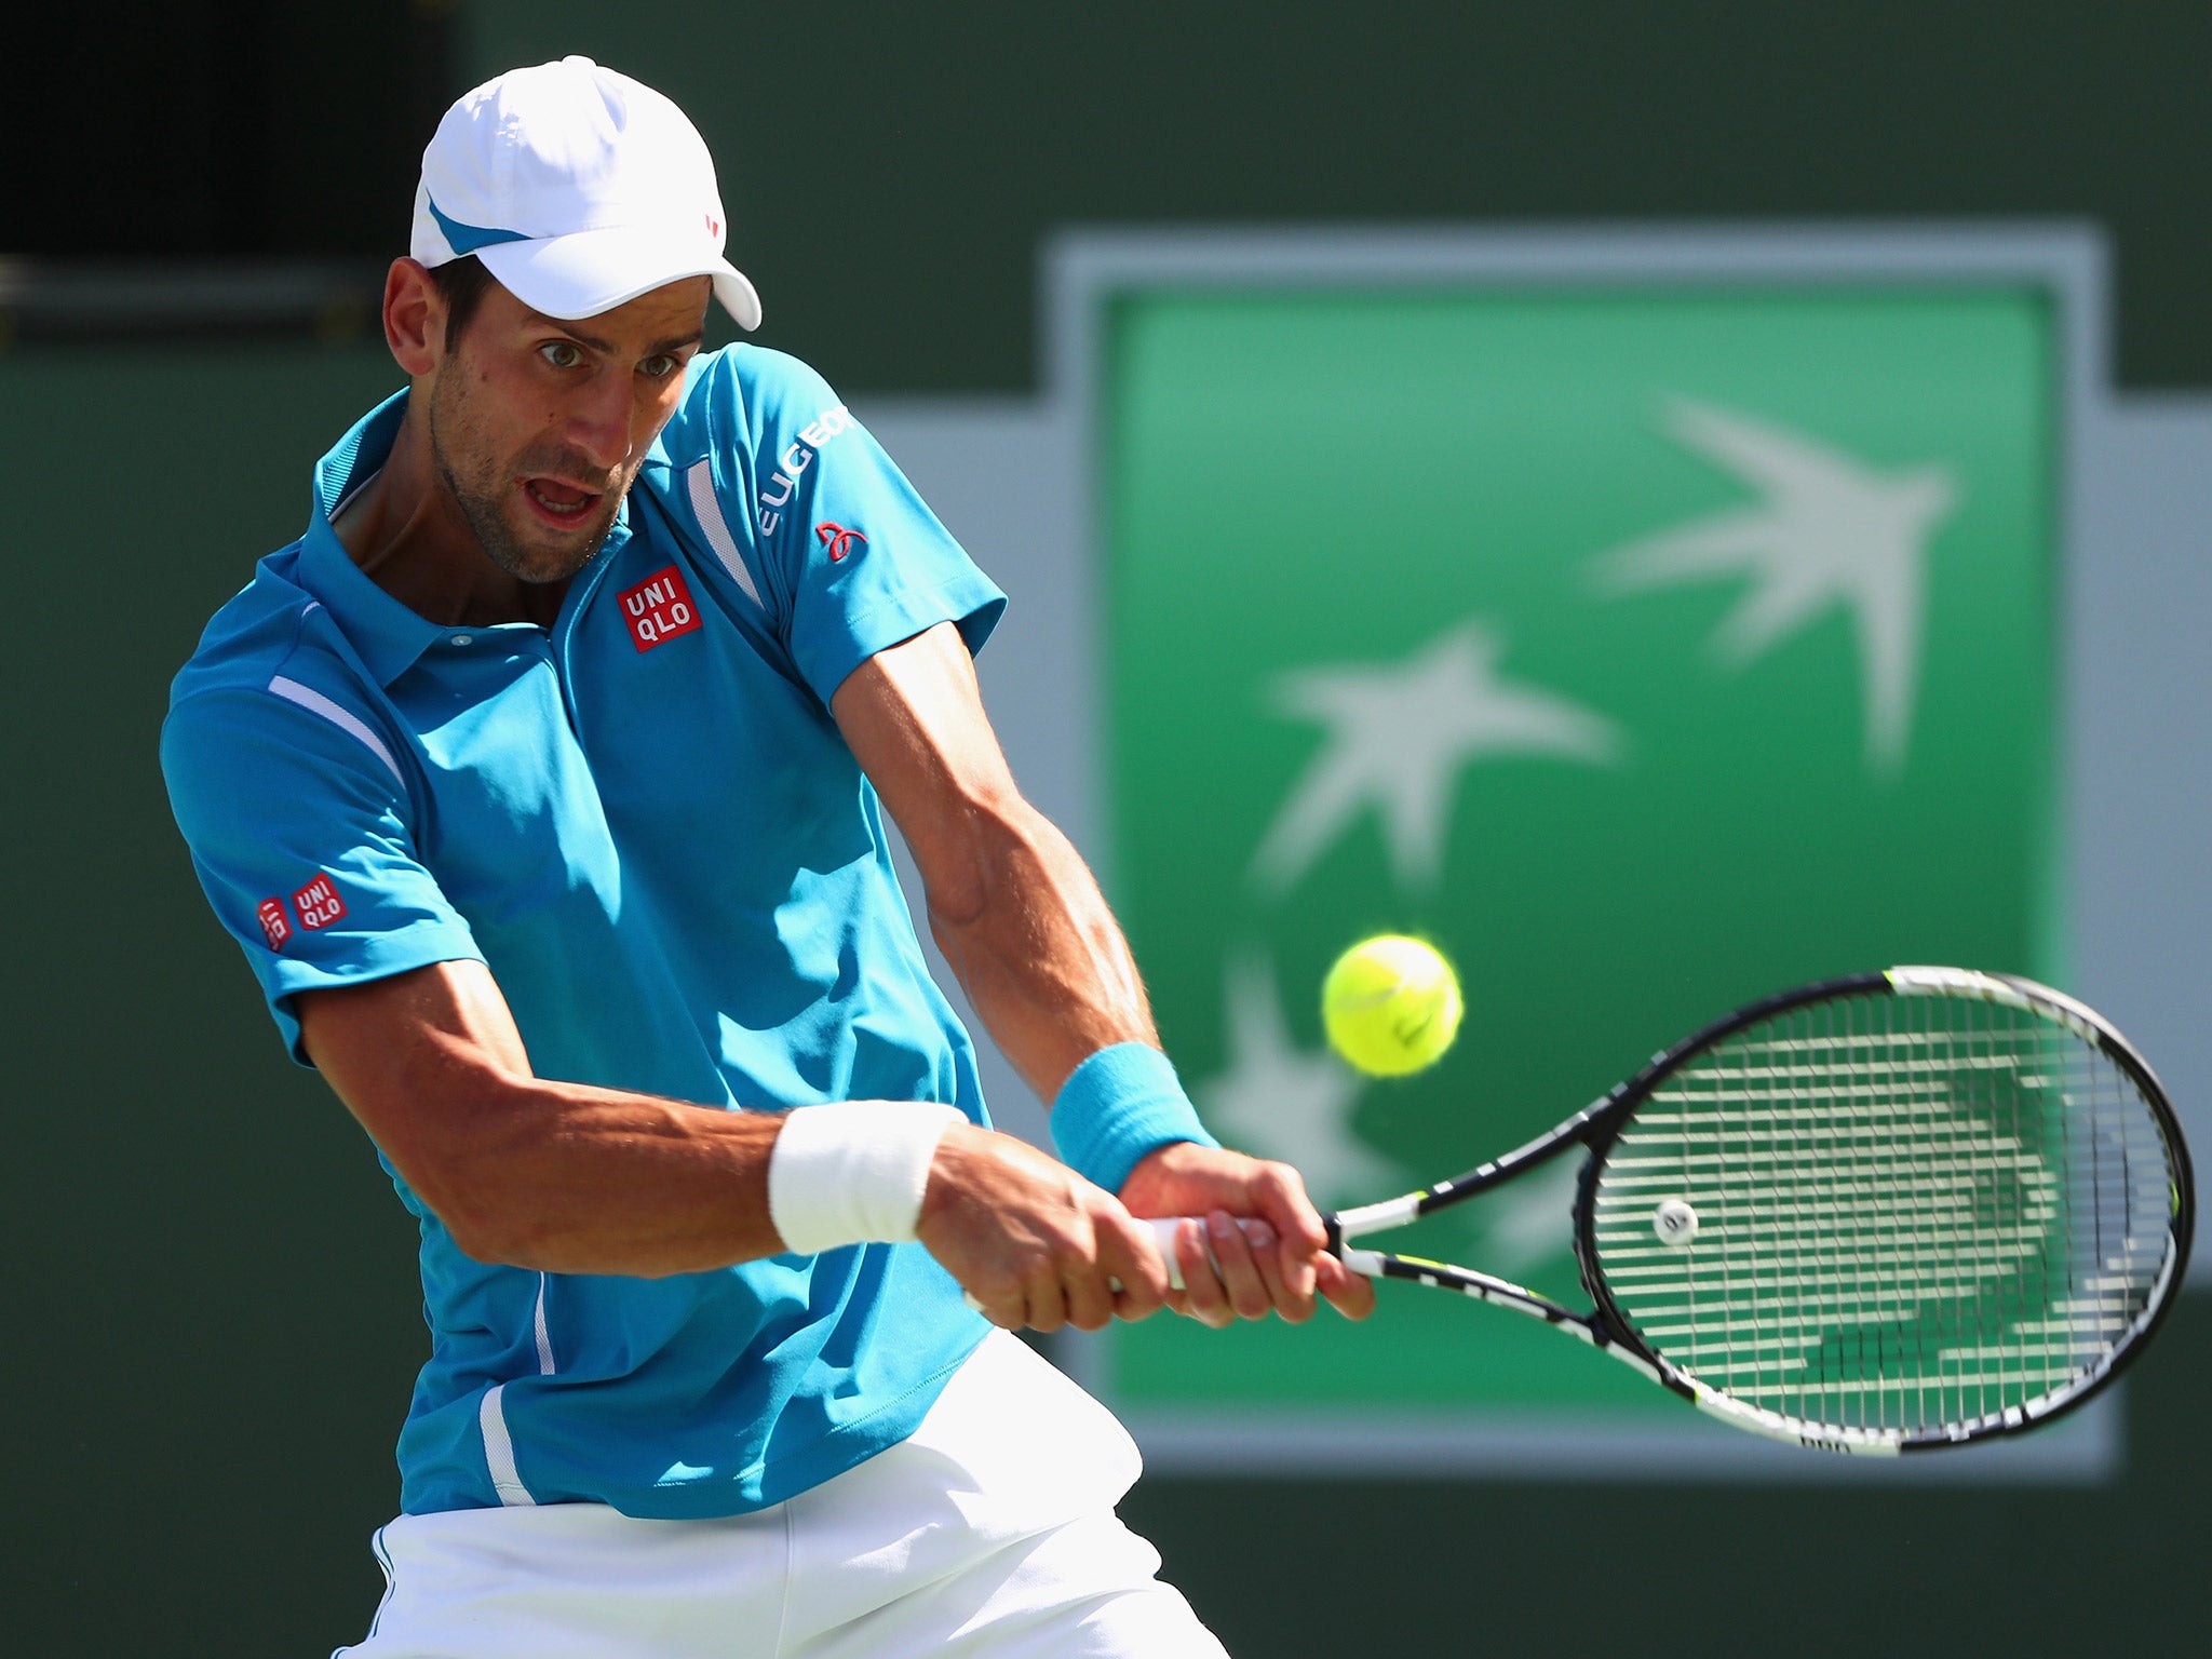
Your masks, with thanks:
[(909, 1440), (752, 1515), (400, 1515), (376, 1624), (338, 1655), (1225, 1659), (1113, 1513), (1139, 1467), (1106, 1407), (993, 1332)]

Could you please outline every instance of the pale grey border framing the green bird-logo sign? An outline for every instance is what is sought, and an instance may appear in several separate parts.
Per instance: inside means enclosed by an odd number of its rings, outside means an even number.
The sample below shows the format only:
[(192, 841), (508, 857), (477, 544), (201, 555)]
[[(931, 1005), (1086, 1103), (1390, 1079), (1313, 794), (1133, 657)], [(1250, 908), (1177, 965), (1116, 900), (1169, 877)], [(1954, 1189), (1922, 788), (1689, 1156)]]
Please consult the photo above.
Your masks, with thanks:
[[(1075, 438), (1075, 582), (1104, 593), (1099, 394), (1106, 310), (1119, 294), (1159, 288), (2035, 288), (2048, 294), (2057, 332), (2057, 807), (2059, 867), (2070, 863), (2075, 818), (2068, 757), (2079, 712), (2068, 695), (2077, 606), (2066, 595), (2099, 580), (2099, 546), (2084, 533), (2086, 434), (2112, 411), (2110, 261), (2088, 223), (2017, 226), (1699, 226), (1699, 228), (1358, 228), (1338, 230), (1075, 230), (1044, 250), (1044, 411)], [(1104, 606), (1064, 666), (1079, 708), (1104, 708)], [(1088, 823), (1079, 841), (1113, 891), (1113, 814), (1097, 723), (1082, 721), (1091, 752), (1079, 770)], [(2062, 949), (2081, 945), (2095, 916), (2079, 916), (2066, 883)], [(1068, 1332), (1057, 1349), (1099, 1398), (1113, 1400), (1110, 1334)], [(1913, 1484), (2097, 1484), (2126, 1455), (2119, 1389), (2033, 1436), (1980, 1444), (1966, 1455), (1818, 1458), (1683, 1411), (1677, 1427), (1626, 1427), (1608, 1418), (1520, 1418), (1491, 1411), (1183, 1411), (1119, 1409), (1152, 1469), (1285, 1478), (1577, 1478), (1756, 1480)]]

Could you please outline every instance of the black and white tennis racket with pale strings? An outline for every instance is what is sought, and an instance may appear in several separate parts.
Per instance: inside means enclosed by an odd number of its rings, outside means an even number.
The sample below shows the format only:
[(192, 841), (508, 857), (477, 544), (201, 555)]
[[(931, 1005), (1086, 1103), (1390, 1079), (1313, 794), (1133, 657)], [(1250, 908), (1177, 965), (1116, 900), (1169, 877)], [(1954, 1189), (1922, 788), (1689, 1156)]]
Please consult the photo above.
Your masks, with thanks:
[[(1590, 1312), (1352, 1243), (1571, 1148)], [(1548, 1135), (1327, 1228), (1354, 1272), (1533, 1314), (1723, 1422), (1902, 1453), (2119, 1376), (2192, 1217), (2172, 1106), (2110, 1024), (2031, 980), (1898, 967), (1739, 1009)]]

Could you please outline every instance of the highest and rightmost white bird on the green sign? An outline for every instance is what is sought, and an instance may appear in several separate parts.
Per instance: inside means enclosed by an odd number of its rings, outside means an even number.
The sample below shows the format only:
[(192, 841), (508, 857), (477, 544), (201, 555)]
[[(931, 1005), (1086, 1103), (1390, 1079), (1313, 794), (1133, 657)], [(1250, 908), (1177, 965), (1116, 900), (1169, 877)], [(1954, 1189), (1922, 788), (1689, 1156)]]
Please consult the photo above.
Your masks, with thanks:
[(1763, 493), (1743, 507), (1599, 555), (1606, 593), (1743, 573), (1752, 586), (1712, 637), (1730, 670), (1834, 604), (1858, 635), (1867, 761), (1896, 776), (1920, 681), (1927, 544), (1958, 504), (1944, 467), (1878, 473), (1801, 431), (1677, 400), (1668, 431)]

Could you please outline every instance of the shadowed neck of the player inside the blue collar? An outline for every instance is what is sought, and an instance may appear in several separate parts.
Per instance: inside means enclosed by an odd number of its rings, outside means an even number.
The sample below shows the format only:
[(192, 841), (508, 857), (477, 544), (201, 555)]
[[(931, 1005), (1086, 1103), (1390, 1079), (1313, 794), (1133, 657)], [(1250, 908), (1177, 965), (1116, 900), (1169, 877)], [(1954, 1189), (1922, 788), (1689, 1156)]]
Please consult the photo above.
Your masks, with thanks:
[(522, 582), (491, 562), (438, 476), (411, 403), (383, 471), (345, 498), (330, 529), (363, 575), (440, 628), (551, 628), (568, 593), (566, 582)]

